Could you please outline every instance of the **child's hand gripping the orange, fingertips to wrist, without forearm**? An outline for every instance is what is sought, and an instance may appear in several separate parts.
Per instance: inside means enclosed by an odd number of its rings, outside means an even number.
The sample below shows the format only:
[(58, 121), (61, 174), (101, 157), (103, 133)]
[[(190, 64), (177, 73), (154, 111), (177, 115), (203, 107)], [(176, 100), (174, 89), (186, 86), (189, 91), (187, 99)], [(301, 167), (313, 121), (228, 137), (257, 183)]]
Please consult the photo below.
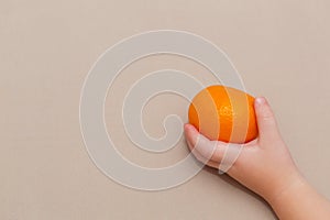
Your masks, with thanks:
[[(256, 98), (254, 106), (260, 136), (242, 147), (228, 174), (253, 191), (272, 199), (271, 197), (280, 194), (280, 190), (296, 182), (299, 174), (282, 141), (267, 101)], [(185, 133), (190, 150), (198, 143), (195, 146), (195, 156), (204, 163), (206, 158), (210, 158), (207, 165), (218, 168), (228, 144), (217, 142), (215, 148), (215, 142), (207, 140), (190, 124), (185, 125)], [(197, 142), (198, 139), (202, 141)]]

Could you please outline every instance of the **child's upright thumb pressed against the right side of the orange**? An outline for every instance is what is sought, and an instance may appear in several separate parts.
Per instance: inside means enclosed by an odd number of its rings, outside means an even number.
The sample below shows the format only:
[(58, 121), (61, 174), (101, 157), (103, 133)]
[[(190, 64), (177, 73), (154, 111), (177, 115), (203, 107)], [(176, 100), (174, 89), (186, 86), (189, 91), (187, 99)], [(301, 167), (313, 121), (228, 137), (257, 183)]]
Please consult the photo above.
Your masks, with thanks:
[(258, 128), (260, 141), (275, 141), (280, 138), (276, 119), (271, 106), (264, 97), (254, 100), (254, 109)]

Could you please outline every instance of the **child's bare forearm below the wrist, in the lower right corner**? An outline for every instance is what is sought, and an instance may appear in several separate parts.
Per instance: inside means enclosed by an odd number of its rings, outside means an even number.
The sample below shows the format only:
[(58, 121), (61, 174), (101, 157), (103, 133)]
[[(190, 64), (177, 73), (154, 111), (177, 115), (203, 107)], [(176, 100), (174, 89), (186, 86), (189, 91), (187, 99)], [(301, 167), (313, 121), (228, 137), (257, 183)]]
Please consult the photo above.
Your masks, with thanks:
[(329, 200), (302, 178), (267, 200), (280, 220), (330, 219)]

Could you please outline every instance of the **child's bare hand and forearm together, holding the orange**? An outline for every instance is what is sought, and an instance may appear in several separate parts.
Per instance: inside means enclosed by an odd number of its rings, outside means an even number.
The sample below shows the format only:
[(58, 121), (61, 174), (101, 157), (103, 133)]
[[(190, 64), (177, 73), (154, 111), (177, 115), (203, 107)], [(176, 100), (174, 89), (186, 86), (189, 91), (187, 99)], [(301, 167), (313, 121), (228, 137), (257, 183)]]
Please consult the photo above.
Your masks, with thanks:
[[(319, 195), (299, 173), (267, 100), (256, 98), (254, 109), (258, 138), (244, 144), (227, 174), (261, 195), (282, 220), (329, 220), (329, 200)], [(198, 161), (219, 168), (227, 143), (208, 140), (191, 124), (185, 124), (185, 135)]]

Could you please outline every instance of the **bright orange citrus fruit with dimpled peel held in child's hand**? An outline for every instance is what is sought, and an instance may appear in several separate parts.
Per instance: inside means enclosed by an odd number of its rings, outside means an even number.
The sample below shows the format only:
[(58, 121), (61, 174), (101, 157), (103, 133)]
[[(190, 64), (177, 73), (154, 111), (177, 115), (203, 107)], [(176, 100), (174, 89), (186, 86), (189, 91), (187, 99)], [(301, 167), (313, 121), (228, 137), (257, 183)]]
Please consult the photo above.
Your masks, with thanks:
[(212, 141), (246, 143), (257, 136), (254, 98), (241, 90), (210, 86), (193, 99), (189, 123)]

